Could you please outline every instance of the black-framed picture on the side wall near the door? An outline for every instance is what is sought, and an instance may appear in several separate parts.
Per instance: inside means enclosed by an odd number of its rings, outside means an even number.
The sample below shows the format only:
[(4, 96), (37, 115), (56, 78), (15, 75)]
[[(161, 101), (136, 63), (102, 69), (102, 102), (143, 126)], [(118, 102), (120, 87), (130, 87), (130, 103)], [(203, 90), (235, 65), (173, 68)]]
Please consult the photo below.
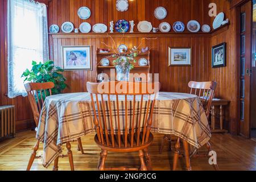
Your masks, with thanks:
[(226, 66), (226, 43), (212, 47), (212, 68)]

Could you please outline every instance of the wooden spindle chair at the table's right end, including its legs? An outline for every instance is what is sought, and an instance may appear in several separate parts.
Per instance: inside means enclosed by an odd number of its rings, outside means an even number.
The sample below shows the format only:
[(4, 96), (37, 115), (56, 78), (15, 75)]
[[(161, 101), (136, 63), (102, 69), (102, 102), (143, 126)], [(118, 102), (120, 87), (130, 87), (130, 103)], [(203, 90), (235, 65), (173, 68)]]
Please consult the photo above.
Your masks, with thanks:
[[(191, 81), (188, 83), (189, 88), (191, 88), (191, 94), (195, 94), (199, 96), (201, 99), (201, 102), (204, 106), (205, 109), (205, 114), (207, 115), (207, 119), (209, 119), (210, 115), (210, 106), (212, 105), (212, 100), (214, 97), (214, 90), (216, 89), (217, 83), (214, 81), (209, 81), (209, 82), (195, 82)], [(171, 146), (171, 135), (166, 135), (164, 136), (161, 147), (160, 147), (160, 153), (162, 153), (163, 150), (163, 141), (164, 139), (168, 139), (169, 146)], [(176, 170), (177, 167), (177, 159), (180, 156), (180, 138), (177, 138), (176, 144), (175, 144), (175, 152), (174, 152), (174, 164), (173, 164), (173, 169)], [(210, 143), (207, 142), (206, 144), (208, 148), (208, 152), (212, 151), (212, 148), (210, 146)], [(186, 167), (187, 170), (191, 170), (190, 166), (190, 159), (189, 159), (189, 147), (188, 147), (188, 142), (183, 140), (183, 148), (184, 148), (184, 155), (185, 155), (185, 160), (186, 160)], [(205, 156), (205, 155), (204, 155)], [(214, 169), (218, 171), (218, 165), (213, 165)]]

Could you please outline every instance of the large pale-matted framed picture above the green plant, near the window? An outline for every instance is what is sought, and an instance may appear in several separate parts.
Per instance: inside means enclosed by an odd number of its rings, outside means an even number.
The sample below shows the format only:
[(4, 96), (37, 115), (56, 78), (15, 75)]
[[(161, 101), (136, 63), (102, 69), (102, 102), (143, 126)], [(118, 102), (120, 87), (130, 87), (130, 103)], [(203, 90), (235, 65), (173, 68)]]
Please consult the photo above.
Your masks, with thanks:
[(92, 70), (92, 46), (63, 46), (63, 69)]

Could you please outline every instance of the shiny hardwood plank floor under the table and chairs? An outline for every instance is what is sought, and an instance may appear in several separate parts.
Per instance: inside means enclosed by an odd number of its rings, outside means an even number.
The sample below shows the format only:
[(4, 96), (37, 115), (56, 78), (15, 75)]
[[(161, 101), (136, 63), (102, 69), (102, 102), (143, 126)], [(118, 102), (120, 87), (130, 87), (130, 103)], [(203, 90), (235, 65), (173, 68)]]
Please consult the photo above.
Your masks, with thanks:
[[(94, 135), (86, 135), (82, 138), (85, 155), (76, 150), (77, 143), (72, 143), (75, 170), (96, 170), (100, 149), (93, 140)], [(171, 170), (173, 152), (168, 152), (168, 144), (164, 146), (163, 154), (159, 154), (160, 140), (163, 135), (154, 134), (154, 143), (150, 147), (152, 167), (154, 170)], [(32, 147), (36, 142), (35, 132), (26, 131), (18, 133), (14, 139), (0, 143), (0, 170), (25, 170)], [(64, 148), (64, 147), (63, 147)], [(217, 162), (220, 170), (256, 170), (256, 142), (242, 137), (233, 137), (229, 134), (213, 134), (212, 148), (217, 152)], [(38, 154), (42, 154), (42, 144)], [(67, 150), (64, 149), (64, 153)], [(201, 149), (200, 152), (206, 152)], [(131, 154), (117, 154), (109, 152), (106, 167), (139, 165), (137, 152)], [(53, 165), (52, 165), (53, 166)], [(35, 159), (31, 170), (52, 170), (40, 164), (40, 159)], [(192, 170), (213, 170), (208, 164), (208, 158), (192, 158)], [(59, 159), (59, 170), (69, 170), (68, 158)], [(180, 158), (178, 170), (185, 170), (185, 161)]]

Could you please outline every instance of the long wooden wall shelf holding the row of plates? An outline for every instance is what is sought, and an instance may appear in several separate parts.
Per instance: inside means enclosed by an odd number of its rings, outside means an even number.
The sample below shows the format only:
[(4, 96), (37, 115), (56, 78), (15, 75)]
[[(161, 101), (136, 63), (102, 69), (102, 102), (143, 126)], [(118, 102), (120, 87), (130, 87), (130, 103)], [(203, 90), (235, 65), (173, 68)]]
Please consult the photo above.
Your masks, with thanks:
[(134, 32), (134, 33), (58, 33), (58, 34), (49, 34), (52, 36), (52, 38), (107, 38), (108, 35), (111, 35), (112, 38), (183, 38), (183, 37), (211, 37), (214, 36), (220, 32), (228, 30), (229, 24), (225, 24), (224, 26), (221, 26), (220, 28), (217, 28), (216, 30), (213, 30), (209, 33), (205, 32), (182, 32), (182, 33), (177, 33), (177, 32), (168, 32), (168, 33), (141, 33), (141, 32)]

